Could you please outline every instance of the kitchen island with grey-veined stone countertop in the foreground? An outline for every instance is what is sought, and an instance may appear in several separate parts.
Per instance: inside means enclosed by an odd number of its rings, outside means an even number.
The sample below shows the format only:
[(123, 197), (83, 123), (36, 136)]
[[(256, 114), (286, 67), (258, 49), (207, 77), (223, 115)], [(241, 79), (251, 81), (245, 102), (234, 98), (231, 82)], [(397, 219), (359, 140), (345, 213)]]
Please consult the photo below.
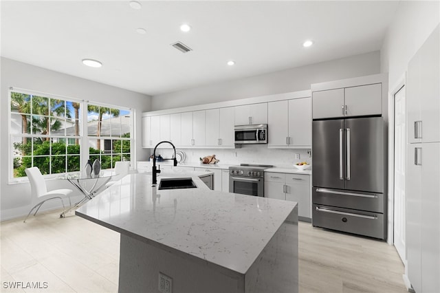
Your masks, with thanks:
[[(163, 173), (157, 186), (182, 175)], [(151, 175), (127, 175), (76, 210), (120, 232), (119, 292), (298, 292), (297, 204), (185, 175), (197, 188), (157, 190)]]

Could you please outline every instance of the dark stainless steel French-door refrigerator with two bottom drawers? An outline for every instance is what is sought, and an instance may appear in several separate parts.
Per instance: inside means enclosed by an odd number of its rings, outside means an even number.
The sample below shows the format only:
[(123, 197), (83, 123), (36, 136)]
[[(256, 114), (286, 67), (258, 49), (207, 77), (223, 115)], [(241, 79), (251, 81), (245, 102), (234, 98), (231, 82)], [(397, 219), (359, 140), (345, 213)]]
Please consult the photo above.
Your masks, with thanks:
[(383, 118), (312, 126), (313, 226), (385, 239)]

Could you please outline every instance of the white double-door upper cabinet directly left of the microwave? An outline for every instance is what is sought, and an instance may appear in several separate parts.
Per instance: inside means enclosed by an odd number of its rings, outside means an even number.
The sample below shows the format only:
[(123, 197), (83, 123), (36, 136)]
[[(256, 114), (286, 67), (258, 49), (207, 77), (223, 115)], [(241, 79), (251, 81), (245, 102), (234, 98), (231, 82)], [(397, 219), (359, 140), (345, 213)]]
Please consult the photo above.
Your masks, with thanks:
[(206, 146), (234, 146), (234, 108), (206, 110)]

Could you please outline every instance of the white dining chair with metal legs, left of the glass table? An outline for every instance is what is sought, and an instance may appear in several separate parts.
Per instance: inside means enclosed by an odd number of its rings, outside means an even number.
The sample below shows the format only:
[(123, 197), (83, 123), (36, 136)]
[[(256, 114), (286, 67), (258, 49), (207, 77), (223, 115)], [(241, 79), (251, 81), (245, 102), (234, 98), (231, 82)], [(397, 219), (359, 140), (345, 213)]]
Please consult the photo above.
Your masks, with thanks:
[(34, 215), (36, 215), (41, 206), (50, 199), (58, 198), (61, 200), (61, 203), (63, 204), (63, 213), (61, 215), (63, 215), (64, 217), (66, 209), (64, 206), (63, 198), (67, 197), (69, 199), (70, 206), (72, 206), (72, 202), (70, 201), (69, 196), (69, 194), (72, 193), (72, 189), (56, 189), (54, 191), (47, 191), (46, 182), (43, 178), (43, 175), (41, 175), (40, 169), (38, 169), (38, 167), (25, 169), (25, 173), (26, 175), (28, 175), (29, 178), (32, 205), (34, 205), (34, 207), (31, 208), (23, 223), (28, 219), (30, 213), (32, 213), (32, 210), (36, 208), (36, 211), (34, 213)]

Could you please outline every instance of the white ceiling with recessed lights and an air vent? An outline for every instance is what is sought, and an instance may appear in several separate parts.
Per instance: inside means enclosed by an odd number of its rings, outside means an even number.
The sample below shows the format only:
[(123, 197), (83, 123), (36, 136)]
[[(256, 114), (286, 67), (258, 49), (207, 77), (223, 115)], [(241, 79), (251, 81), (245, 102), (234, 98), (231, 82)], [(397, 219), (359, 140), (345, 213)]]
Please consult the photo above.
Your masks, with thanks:
[[(148, 95), (380, 50), (398, 1), (1, 1), (1, 56)], [(179, 25), (188, 23), (190, 32)], [(146, 34), (135, 30), (144, 28)], [(312, 39), (312, 47), (303, 41)], [(181, 41), (193, 51), (179, 52)], [(102, 62), (86, 67), (83, 58)], [(236, 65), (228, 66), (229, 60)]]

